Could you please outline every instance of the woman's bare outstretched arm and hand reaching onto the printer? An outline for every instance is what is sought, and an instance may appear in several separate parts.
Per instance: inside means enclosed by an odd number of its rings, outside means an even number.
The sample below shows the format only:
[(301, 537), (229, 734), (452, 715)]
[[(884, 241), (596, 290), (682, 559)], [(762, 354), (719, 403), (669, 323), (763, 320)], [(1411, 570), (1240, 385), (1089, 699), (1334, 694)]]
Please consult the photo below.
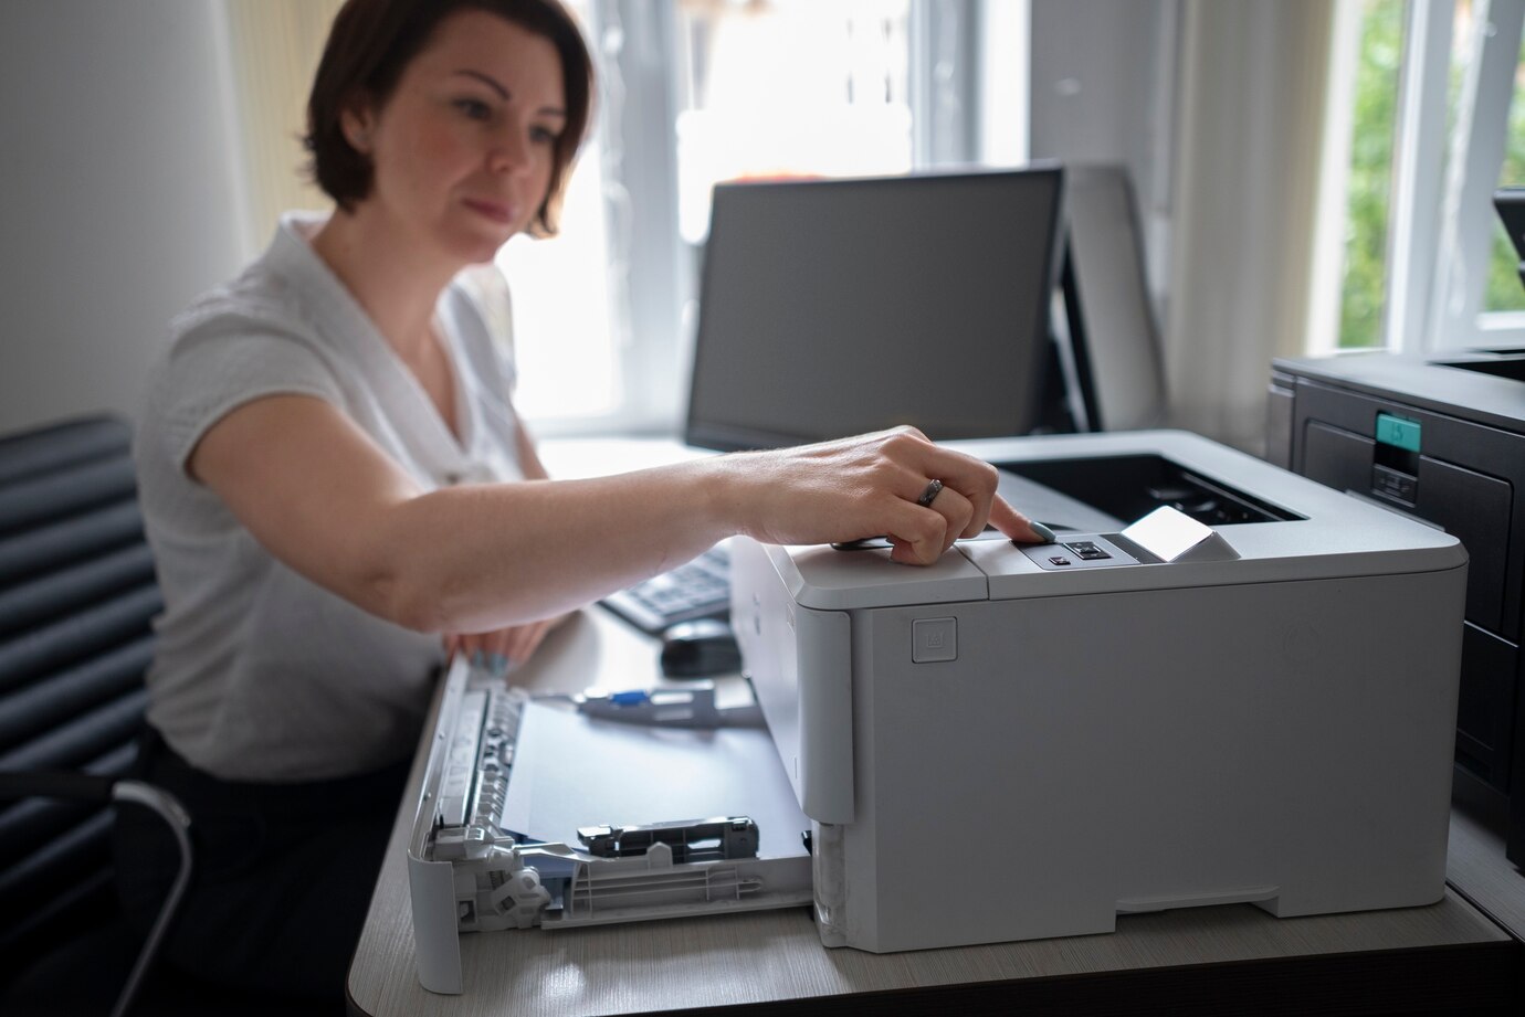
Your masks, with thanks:
[[(996, 497), (993, 467), (910, 428), (589, 480), (425, 492), (339, 409), (282, 395), (212, 425), (188, 468), (287, 566), (418, 631), (560, 614), (734, 534), (790, 544), (883, 534), (897, 561), (923, 564), (987, 520), (1037, 540)], [(944, 488), (921, 506), (932, 479)]]

